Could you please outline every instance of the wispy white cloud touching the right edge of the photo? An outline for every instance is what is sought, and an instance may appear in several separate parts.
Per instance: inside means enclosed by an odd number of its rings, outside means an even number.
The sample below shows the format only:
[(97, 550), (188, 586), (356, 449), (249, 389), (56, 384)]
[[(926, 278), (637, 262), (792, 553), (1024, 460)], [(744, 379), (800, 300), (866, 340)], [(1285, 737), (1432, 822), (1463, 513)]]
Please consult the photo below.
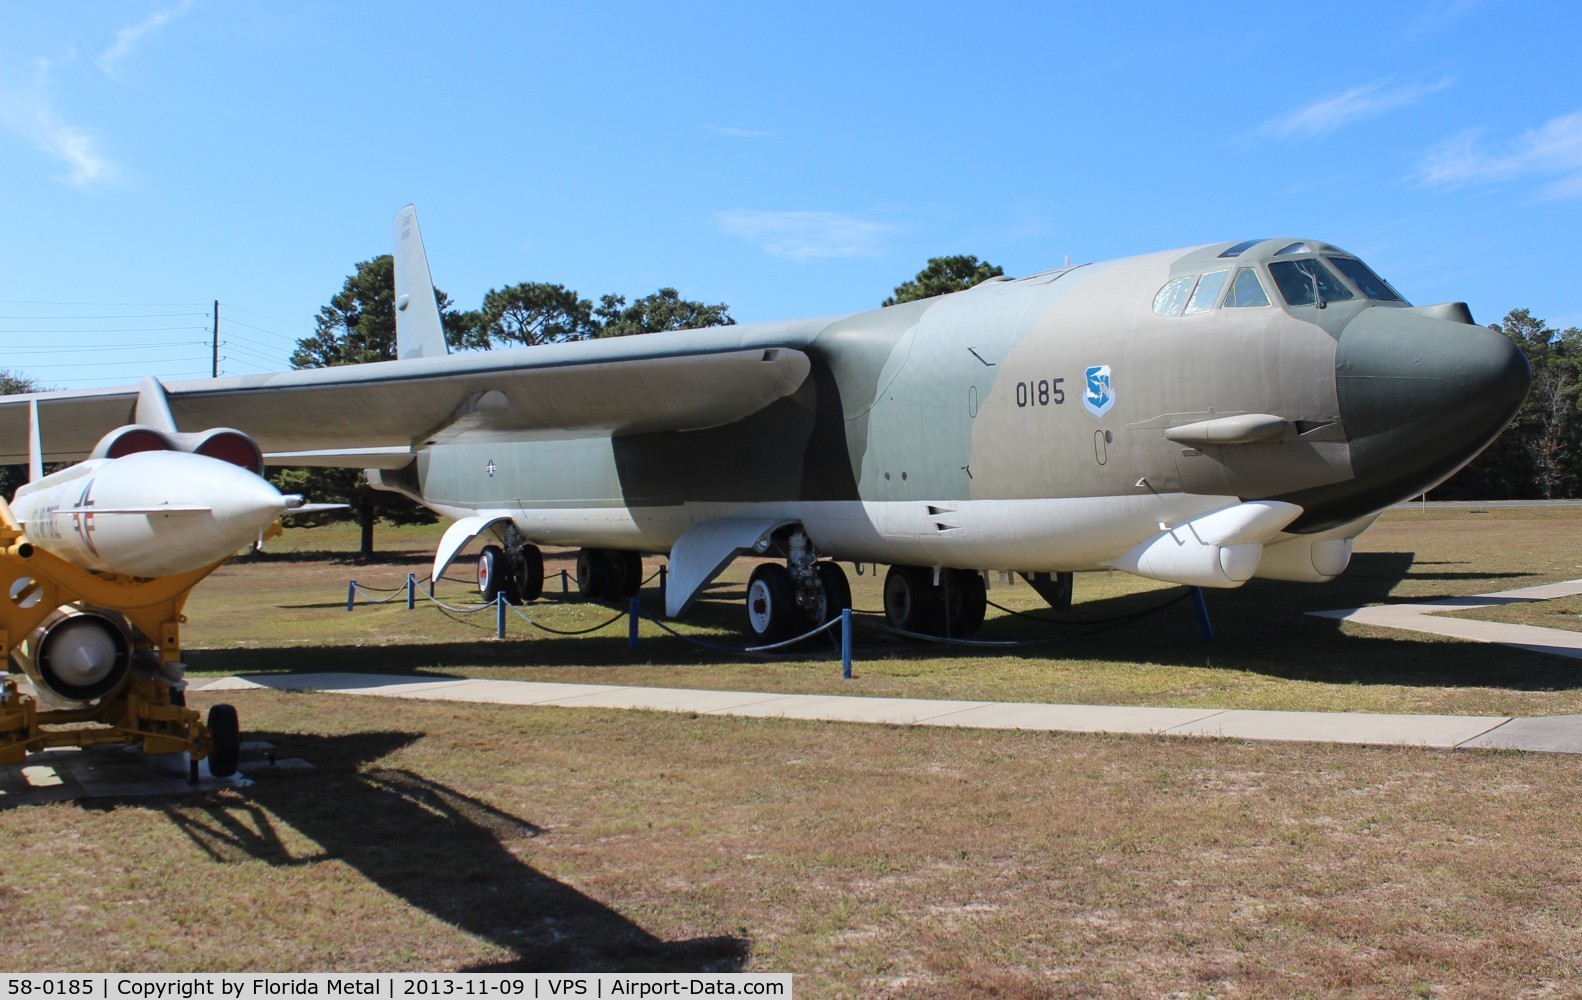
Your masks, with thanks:
[(1504, 144), (1489, 142), (1485, 130), (1457, 133), (1429, 150), (1417, 176), (1430, 187), (1550, 177), (1541, 198), (1582, 198), (1582, 111), (1549, 119)]

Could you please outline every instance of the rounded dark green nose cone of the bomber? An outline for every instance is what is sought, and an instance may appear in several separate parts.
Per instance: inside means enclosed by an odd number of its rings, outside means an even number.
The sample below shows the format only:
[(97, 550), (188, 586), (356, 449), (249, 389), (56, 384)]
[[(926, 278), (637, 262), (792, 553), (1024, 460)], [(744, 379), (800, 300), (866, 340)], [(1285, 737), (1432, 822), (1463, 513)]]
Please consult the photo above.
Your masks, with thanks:
[(1516, 416), (1531, 370), (1500, 334), (1405, 309), (1368, 309), (1335, 356), (1361, 516), (1429, 491)]

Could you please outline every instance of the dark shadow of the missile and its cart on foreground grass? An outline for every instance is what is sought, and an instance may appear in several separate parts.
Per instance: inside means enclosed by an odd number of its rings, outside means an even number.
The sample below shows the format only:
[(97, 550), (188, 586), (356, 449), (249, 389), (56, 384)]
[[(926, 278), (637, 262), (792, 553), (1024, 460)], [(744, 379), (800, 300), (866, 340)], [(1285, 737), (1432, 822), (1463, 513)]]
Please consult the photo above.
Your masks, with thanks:
[[(435, 919), (514, 957), (464, 972), (739, 972), (748, 941), (663, 941), (511, 850), (543, 831), (454, 788), (377, 761), (414, 733), (252, 734), (315, 764), (264, 774), (244, 801), (176, 801), (171, 821), (225, 864), (299, 867), (340, 861)], [(312, 839), (299, 856), (280, 826)]]

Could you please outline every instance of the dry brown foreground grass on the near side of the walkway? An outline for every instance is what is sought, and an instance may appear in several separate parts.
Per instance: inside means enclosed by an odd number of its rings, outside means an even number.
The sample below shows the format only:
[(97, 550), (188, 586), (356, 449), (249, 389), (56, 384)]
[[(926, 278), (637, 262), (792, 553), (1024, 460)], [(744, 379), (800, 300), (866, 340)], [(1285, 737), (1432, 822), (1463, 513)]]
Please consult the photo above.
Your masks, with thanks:
[(1576, 763), (247, 693), (310, 774), (0, 812), (16, 968), (1574, 995)]

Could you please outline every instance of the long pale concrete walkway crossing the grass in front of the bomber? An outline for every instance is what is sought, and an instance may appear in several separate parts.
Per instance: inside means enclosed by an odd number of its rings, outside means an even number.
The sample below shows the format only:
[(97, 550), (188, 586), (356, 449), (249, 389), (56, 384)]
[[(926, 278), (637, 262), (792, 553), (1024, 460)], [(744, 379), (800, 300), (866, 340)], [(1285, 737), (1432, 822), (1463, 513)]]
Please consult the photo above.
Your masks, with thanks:
[[(854, 698), (842, 695), (772, 695), (766, 691), (709, 691), (378, 674), (226, 677), (209, 684), (202, 690), (220, 693), (259, 688), (432, 701), (644, 709), (698, 715), (818, 718), (826, 722), (975, 729), (1133, 733), (1274, 742), (1432, 747), (1438, 750), (1516, 748), (1582, 753), (1582, 715), (1550, 720), (1512, 720), (1504, 715), (1152, 709), (997, 701), (929, 701), (919, 698)], [(1535, 726), (1533, 723), (1542, 725)]]

